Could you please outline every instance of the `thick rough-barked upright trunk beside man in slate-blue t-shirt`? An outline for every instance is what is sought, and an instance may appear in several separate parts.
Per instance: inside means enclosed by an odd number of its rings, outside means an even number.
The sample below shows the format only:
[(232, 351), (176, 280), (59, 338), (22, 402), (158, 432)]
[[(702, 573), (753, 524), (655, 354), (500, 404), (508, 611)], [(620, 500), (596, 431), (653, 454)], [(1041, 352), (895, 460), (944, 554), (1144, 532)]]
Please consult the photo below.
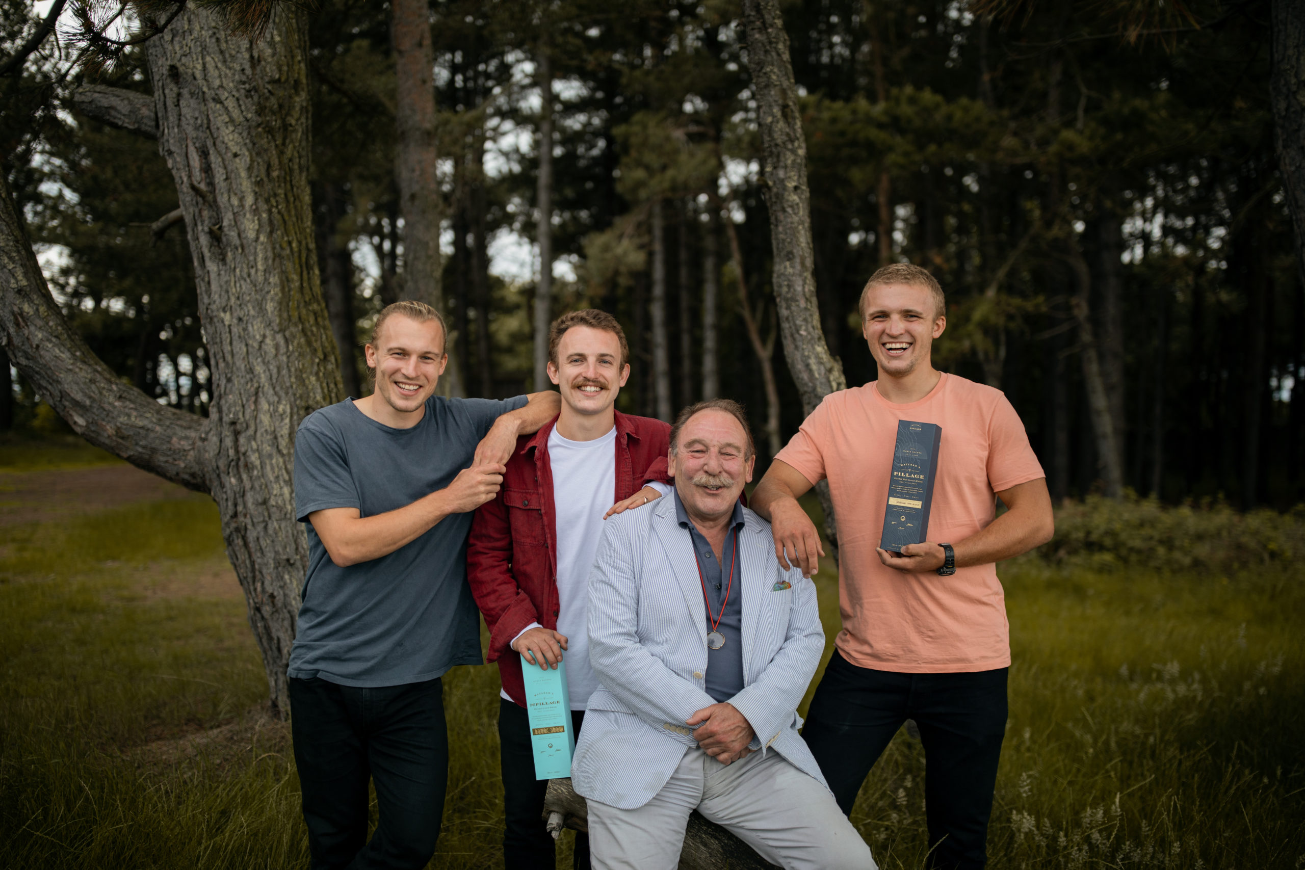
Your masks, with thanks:
[(185, 213), (213, 368), (204, 477), (283, 713), (308, 563), (295, 429), (343, 389), (313, 250), (307, 52), (304, 16), (291, 7), (253, 42), (230, 35), (219, 12), (191, 7), (147, 43), (159, 150)]

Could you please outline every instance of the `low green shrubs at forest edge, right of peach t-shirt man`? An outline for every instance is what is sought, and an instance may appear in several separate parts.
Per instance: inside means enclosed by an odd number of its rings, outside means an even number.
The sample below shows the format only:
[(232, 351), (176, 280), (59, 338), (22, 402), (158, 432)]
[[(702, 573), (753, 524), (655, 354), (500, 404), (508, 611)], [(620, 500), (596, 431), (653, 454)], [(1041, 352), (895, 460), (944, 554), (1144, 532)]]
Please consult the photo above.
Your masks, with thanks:
[(1056, 513), (1044, 561), (1094, 570), (1237, 574), (1305, 558), (1305, 506), (1236, 511), (1224, 502), (1171, 507), (1155, 498), (1090, 496)]

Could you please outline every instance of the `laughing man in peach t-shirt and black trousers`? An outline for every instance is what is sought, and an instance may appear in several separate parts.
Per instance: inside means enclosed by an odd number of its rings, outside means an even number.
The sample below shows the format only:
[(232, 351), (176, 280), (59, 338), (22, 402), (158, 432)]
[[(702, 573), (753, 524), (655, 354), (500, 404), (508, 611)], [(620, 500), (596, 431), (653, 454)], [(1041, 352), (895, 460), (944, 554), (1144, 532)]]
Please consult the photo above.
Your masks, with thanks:
[[(930, 867), (983, 867), (1010, 667), (996, 562), (1052, 536), (1047, 480), (1001, 391), (944, 374), (930, 347), (944, 295), (924, 269), (885, 266), (861, 292), (880, 378), (826, 395), (752, 497), (779, 561), (814, 574), (823, 550), (797, 497), (829, 480), (843, 630), (803, 737), (851, 814), (907, 719), (924, 743)], [(924, 544), (880, 549), (898, 420), (942, 428)], [(997, 517), (997, 498), (1007, 510)]]

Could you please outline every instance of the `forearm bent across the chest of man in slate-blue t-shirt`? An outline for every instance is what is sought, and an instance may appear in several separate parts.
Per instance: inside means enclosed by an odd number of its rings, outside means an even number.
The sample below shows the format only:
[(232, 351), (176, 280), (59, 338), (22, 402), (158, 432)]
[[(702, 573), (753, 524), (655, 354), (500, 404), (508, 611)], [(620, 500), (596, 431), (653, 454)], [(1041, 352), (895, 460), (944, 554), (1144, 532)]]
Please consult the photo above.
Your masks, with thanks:
[(411, 505), (375, 517), (361, 517), (356, 507), (328, 507), (308, 514), (308, 522), (341, 567), (369, 562), (411, 544), (449, 514), (472, 511), (493, 498), (502, 472), (502, 466), (463, 468), (452, 484)]

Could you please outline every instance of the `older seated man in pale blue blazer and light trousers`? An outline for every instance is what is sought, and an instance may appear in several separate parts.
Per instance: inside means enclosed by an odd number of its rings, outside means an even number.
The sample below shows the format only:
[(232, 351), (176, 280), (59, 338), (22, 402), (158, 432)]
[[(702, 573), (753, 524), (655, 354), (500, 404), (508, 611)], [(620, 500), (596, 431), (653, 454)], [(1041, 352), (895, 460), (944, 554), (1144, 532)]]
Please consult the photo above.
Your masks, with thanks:
[(671, 428), (671, 496), (607, 520), (589, 580), (572, 781), (594, 867), (673, 870), (693, 810), (784, 867), (873, 869), (797, 734), (825, 647), (816, 587), (739, 503), (754, 447), (728, 399)]

